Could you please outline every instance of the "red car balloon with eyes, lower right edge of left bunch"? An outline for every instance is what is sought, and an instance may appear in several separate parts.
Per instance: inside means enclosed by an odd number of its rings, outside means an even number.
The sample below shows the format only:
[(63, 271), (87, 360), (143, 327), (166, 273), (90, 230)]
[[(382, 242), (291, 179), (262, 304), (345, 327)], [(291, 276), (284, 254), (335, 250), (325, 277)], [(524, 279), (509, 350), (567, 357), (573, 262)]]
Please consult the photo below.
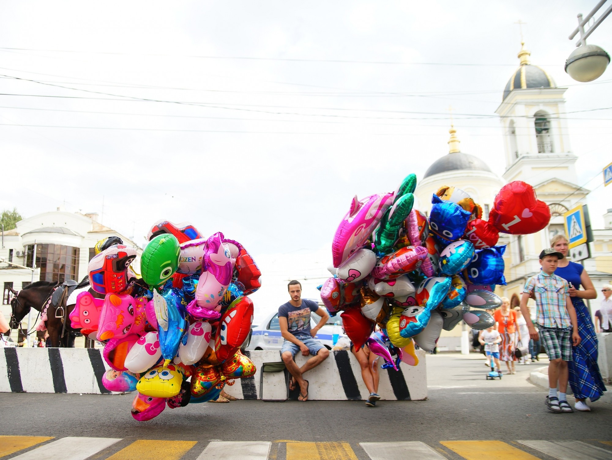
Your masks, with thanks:
[(215, 354), (220, 363), (231, 358), (244, 343), (253, 323), (253, 302), (238, 297), (223, 313), (215, 336)]

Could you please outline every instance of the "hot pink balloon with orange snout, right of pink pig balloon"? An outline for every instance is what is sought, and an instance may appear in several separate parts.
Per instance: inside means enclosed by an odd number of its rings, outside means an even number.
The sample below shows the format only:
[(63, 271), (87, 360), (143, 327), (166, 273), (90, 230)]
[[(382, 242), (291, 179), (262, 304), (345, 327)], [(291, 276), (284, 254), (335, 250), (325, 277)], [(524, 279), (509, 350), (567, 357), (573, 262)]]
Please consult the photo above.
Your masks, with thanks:
[(134, 299), (128, 294), (106, 294), (100, 312), (100, 325), (96, 339), (118, 339), (129, 333), (140, 334), (144, 330), (146, 297)]

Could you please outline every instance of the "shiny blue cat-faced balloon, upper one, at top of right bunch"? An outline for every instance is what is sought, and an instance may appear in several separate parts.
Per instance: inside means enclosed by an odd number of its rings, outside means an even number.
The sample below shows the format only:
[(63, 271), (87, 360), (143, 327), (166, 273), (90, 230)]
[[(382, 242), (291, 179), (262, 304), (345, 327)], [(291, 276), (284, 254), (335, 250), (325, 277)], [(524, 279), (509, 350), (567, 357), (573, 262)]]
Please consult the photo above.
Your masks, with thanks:
[(446, 246), (460, 239), (468, 226), (471, 213), (457, 203), (440, 199), (438, 195), (431, 197), (431, 214), (429, 228), (438, 242)]

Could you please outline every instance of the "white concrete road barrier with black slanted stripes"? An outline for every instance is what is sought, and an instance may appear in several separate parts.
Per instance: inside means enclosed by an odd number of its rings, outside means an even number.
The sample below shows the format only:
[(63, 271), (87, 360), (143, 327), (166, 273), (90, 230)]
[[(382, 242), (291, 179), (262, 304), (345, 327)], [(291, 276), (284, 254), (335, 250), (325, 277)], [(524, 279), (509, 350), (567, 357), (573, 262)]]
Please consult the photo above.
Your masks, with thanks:
[[(236, 379), (225, 391), (239, 399), (259, 398), (262, 363), (280, 362), (278, 351), (245, 352), (258, 368), (253, 377)], [(425, 352), (417, 351), (418, 366), (401, 363), (400, 371), (378, 369), (378, 393), (383, 399), (426, 399)], [(307, 360), (296, 356), (297, 365)], [(379, 358), (378, 365), (382, 362)], [(4, 348), (0, 350), (0, 391), (28, 393), (111, 394), (102, 385), (108, 369), (100, 349), (83, 348)], [(304, 374), (310, 382), (309, 399), (363, 400), (369, 395), (361, 378), (359, 363), (348, 351), (332, 352), (326, 361)], [(286, 396), (285, 374), (264, 373), (264, 399)]]

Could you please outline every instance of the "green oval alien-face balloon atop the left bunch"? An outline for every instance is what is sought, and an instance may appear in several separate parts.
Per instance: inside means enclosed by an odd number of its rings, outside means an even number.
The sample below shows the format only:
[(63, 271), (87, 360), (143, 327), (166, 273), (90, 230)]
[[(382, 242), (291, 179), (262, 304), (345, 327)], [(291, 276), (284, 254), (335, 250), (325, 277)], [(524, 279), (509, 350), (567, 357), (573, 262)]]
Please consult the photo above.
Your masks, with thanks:
[(149, 241), (140, 258), (140, 270), (145, 283), (162, 286), (179, 268), (181, 245), (174, 235), (162, 234)]

